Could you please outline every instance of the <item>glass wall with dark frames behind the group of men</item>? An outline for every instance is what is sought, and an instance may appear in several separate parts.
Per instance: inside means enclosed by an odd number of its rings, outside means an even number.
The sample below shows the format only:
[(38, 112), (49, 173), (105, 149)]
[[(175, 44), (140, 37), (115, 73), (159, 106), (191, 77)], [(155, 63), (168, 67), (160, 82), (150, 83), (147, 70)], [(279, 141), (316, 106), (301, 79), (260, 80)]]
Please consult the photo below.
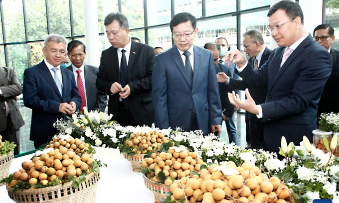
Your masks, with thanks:
[[(98, 7), (99, 51), (105, 49), (103, 0)], [(43, 39), (49, 33), (58, 33), (68, 40), (84, 38), (84, 0), (0, 0), (0, 63), (14, 68), (19, 81), (26, 68), (40, 63)], [(237, 5), (237, 3), (240, 5)], [(326, 0), (325, 22), (335, 28), (339, 38), (339, 0)], [(169, 29), (172, 16), (179, 12), (192, 13), (197, 18), (198, 37), (194, 44), (202, 47), (225, 37), (231, 50), (241, 47), (242, 34), (259, 29), (266, 45), (270, 35), (267, 10), (270, 0), (115, 0), (115, 11), (122, 11), (129, 19), (130, 36), (150, 46), (172, 47)], [(119, 7), (120, 5), (120, 7)], [(239, 8), (239, 9), (237, 9)], [(2, 26), (3, 25), (3, 26)], [(145, 34), (146, 33), (146, 34)], [(339, 49), (339, 40), (332, 45)], [(243, 48), (241, 48), (242, 50)], [(243, 50), (242, 50), (243, 51)], [(101, 54), (100, 54), (101, 56)], [(19, 97), (21, 99), (21, 97)], [(21, 152), (34, 149), (29, 141), (31, 110), (21, 102), (25, 125), (21, 128)]]

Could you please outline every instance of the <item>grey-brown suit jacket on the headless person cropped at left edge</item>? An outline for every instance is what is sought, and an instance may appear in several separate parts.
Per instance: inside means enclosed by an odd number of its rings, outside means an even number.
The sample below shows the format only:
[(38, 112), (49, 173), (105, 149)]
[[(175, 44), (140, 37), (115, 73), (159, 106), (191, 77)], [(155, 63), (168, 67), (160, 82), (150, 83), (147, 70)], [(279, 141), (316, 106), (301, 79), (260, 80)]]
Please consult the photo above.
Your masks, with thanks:
[(0, 67), (0, 132), (7, 126), (7, 115), (4, 102), (9, 107), (10, 117), (15, 130), (24, 125), (19, 106), (16, 104), (15, 97), (21, 94), (21, 85), (17, 79), (16, 73), (11, 68)]

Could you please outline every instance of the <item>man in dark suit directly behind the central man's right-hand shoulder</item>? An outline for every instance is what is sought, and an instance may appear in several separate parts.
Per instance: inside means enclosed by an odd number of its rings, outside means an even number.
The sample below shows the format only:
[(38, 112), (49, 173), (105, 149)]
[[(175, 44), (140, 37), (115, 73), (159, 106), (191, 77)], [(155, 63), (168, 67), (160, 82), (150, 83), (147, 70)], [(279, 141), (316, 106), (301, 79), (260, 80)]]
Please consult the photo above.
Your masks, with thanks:
[[(215, 65), (215, 72), (217, 73), (225, 73), (226, 75), (231, 75), (231, 69), (221, 63), (219, 63), (219, 54), (220, 54), (220, 45), (216, 43), (206, 43), (204, 45), (205, 49), (211, 51), (213, 53), (213, 60)], [(219, 83), (219, 95), (222, 109), (222, 120), (225, 122), (229, 120), (234, 114), (234, 105), (232, 105), (227, 97), (227, 93), (232, 93), (232, 90), (228, 88), (225, 83)], [(229, 143), (238, 144), (237, 136), (236, 139), (233, 139), (233, 136), (228, 135)]]

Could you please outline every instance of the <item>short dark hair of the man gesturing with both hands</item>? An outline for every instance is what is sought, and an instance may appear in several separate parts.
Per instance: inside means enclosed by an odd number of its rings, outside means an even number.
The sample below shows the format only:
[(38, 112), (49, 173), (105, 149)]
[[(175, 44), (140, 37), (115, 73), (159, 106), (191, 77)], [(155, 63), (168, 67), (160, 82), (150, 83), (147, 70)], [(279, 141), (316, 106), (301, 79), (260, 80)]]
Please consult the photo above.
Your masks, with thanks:
[(286, 14), (291, 18), (300, 17), (301, 24), (304, 24), (304, 14), (303, 10), (301, 9), (300, 5), (296, 2), (291, 0), (282, 0), (274, 4), (267, 13), (267, 17), (270, 17), (275, 13), (277, 10), (282, 9), (285, 10)]

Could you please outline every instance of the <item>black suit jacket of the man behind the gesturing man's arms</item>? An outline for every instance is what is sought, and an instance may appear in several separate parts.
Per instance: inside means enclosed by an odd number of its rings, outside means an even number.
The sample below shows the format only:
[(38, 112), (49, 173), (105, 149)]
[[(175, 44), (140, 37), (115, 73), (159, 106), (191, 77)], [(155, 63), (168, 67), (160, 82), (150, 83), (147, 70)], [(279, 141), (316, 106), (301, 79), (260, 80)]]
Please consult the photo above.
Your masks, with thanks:
[[(264, 53), (260, 59), (260, 64), (258, 66), (259, 69), (268, 60), (271, 52), (272, 52), (271, 49), (265, 47)], [(252, 67), (254, 67), (254, 58), (248, 59), (248, 63), (251, 64)], [(246, 81), (230, 78), (229, 88), (245, 90), (246, 88), (249, 88), (249, 86), (246, 84)], [(253, 98), (256, 104), (261, 104), (266, 101), (267, 85), (252, 88), (252, 89), (249, 89), (249, 91), (251, 93), (251, 97)]]

